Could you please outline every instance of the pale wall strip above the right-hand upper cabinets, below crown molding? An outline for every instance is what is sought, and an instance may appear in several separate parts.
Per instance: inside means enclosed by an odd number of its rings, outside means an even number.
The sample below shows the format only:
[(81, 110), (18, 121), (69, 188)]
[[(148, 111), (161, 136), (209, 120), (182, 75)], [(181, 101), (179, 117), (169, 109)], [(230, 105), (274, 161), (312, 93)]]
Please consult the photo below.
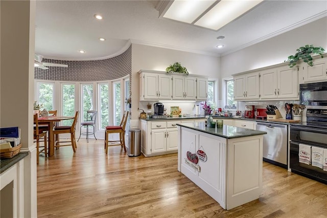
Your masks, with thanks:
[(301, 46), (327, 49), (327, 17), (221, 57), (221, 77), (282, 63)]

